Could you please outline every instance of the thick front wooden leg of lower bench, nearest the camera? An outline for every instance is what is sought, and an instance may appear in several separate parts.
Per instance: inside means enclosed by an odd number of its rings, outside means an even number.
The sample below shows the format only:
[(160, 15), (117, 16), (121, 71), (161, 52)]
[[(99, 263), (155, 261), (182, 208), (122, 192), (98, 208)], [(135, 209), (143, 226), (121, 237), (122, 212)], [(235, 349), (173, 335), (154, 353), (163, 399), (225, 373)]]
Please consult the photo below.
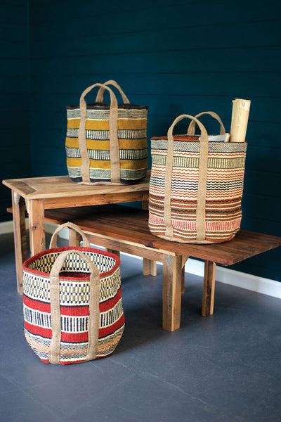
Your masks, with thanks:
[(178, 330), (181, 326), (181, 255), (163, 255), (163, 328)]

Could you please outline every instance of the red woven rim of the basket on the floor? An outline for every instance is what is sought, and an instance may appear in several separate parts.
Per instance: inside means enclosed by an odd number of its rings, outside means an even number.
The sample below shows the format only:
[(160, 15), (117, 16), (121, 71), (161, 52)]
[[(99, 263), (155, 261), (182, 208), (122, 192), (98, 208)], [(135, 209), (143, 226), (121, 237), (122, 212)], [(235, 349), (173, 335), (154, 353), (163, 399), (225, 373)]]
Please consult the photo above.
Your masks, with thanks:
[[(120, 258), (117, 255), (115, 255), (114, 253), (106, 252), (105, 250), (100, 250), (100, 249), (96, 249), (96, 248), (84, 248), (84, 247), (81, 247), (81, 246), (64, 246), (63, 248), (51, 248), (51, 249), (43, 250), (42, 252), (38, 252), (36, 255), (33, 255), (28, 260), (25, 260), (25, 262), (23, 262), (22, 270), (25, 270), (25, 271), (30, 272), (32, 274), (37, 274), (39, 276), (44, 276), (44, 277), (49, 278), (50, 273), (45, 273), (45, 272), (39, 271), (37, 269), (28, 268), (28, 265), (32, 264), (34, 261), (38, 260), (40, 257), (47, 255), (48, 253), (63, 252), (64, 250), (80, 250), (81, 252), (98, 253), (99, 255), (104, 255), (104, 256), (107, 256), (107, 257), (114, 258), (115, 259), (115, 265), (109, 271), (105, 271), (103, 273), (100, 273), (100, 278), (103, 278), (105, 276), (108, 276), (108, 275), (114, 273), (114, 271), (120, 265)], [(87, 276), (87, 274), (86, 274), (86, 277), (85, 276), (83, 276), (83, 277), (60, 276), (60, 279), (61, 280), (72, 280), (72, 281), (86, 281), (86, 280), (90, 279), (90, 274), (89, 274), (89, 276)]]

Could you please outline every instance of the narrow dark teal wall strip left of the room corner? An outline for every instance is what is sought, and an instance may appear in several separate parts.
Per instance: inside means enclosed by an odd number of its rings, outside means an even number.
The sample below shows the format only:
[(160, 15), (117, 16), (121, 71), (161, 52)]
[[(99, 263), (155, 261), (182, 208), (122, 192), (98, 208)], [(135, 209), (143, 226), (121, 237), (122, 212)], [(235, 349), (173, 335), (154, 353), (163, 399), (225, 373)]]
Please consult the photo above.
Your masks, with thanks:
[[(27, 0), (0, 3), (0, 180), (30, 175)], [(11, 191), (0, 184), (0, 222)]]

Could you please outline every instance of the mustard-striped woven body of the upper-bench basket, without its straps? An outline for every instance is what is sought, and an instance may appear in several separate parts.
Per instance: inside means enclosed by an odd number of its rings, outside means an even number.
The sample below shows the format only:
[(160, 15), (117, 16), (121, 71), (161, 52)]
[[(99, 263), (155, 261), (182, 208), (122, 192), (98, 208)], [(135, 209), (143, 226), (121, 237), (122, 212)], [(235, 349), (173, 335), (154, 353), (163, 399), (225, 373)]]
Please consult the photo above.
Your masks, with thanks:
[[(148, 107), (118, 105), (118, 143), (120, 183), (133, 183), (145, 177), (148, 170), (146, 137)], [(65, 148), (67, 170), (73, 181), (81, 182), (81, 154), (78, 132), (79, 106), (67, 107)], [(89, 176), (92, 183), (110, 182), (110, 105), (87, 105), (86, 146), (90, 158)]]

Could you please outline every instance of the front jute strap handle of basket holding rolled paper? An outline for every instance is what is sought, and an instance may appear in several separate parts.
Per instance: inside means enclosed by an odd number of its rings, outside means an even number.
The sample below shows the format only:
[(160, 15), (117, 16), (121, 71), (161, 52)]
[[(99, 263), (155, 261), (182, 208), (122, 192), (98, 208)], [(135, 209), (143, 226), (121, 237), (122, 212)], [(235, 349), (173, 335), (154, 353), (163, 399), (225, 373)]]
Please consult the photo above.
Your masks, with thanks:
[(171, 224), (171, 177), (173, 171), (174, 159), (174, 136), (173, 130), (175, 125), (185, 118), (192, 119), (200, 127), (200, 160), (198, 174), (198, 191), (197, 191), (197, 212), (196, 212), (196, 228), (197, 241), (204, 241), (206, 234), (206, 185), (207, 185), (207, 169), (208, 169), (208, 134), (203, 124), (196, 117), (190, 115), (180, 115), (171, 124), (168, 130), (168, 152), (165, 170), (165, 198), (164, 198), (164, 224), (166, 226), (165, 236), (173, 238), (173, 227)]

